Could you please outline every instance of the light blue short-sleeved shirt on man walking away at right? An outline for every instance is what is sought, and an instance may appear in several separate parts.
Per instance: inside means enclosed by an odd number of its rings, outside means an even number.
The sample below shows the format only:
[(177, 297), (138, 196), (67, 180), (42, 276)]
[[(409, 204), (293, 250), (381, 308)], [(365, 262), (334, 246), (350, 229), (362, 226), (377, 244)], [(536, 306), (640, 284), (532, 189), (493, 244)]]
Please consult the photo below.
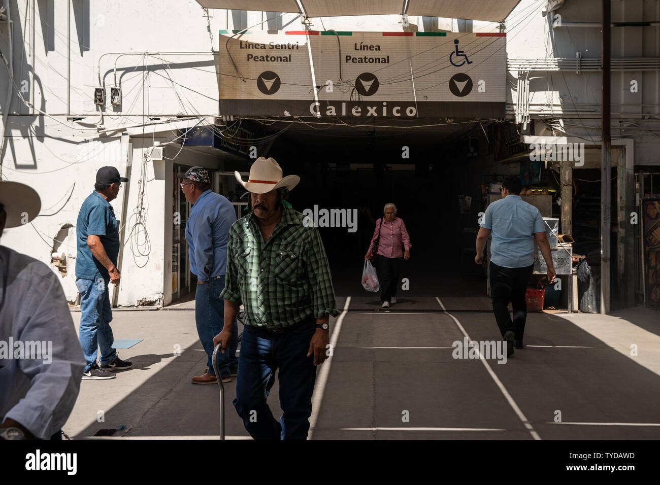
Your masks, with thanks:
[(486, 208), (482, 228), (491, 230), (490, 261), (505, 268), (534, 263), (534, 233), (545, 232), (539, 209), (519, 195), (507, 195)]

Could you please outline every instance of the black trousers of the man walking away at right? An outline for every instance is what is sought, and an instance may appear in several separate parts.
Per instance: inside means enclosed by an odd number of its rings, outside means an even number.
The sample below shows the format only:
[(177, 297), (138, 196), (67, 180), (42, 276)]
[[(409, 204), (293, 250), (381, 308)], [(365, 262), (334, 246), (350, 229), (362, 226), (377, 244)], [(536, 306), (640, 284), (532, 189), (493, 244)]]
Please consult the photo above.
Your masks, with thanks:
[[(515, 333), (515, 340), (523, 340), (525, 320), (527, 320), (527, 302), (525, 290), (534, 271), (534, 265), (523, 268), (505, 268), (490, 262), (490, 296), (493, 313), (500, 333)], [(513, 321), (509, 315), (509, 302), (513, 307)]]

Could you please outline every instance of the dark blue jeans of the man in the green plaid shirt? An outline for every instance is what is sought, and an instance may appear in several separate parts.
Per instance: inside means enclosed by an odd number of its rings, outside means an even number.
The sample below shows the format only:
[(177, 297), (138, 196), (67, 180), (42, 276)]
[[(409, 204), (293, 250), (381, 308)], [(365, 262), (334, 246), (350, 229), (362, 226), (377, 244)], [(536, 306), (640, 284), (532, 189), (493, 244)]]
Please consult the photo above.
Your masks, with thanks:
[[(314, 323), (309, 319), (284, 333), (244, 327), (234, 407), (254, 439), (307, 438), (316, 381), (314, 356), (307, 357)], [(278, 368), (279, 422), (266, 403)]]

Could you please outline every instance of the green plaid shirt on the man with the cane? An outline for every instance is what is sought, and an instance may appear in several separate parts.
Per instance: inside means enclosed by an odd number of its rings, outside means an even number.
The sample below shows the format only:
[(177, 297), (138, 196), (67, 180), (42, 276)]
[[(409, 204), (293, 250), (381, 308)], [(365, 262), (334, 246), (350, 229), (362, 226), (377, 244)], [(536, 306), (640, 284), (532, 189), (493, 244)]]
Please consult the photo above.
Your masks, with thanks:
[(267, 242), (253, 214), (232, 225), (220, 298), (243, 304), (245, 325), (282, 330), (310, 317), (339, 315), (321, 236), (302, 224), (303, 217), (282, 207)]

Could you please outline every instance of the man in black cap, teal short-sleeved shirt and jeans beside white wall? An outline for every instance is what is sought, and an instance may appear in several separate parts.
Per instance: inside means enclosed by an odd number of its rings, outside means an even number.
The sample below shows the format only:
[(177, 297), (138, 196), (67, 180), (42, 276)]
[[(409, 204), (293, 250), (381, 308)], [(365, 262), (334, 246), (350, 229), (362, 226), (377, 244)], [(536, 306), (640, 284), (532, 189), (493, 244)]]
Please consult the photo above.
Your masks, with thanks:
[[(98, 169), (94, 192), (84, 200), (78, 214), (76, 286), (81, 294), (80, 341), (86, 360), (83, 380), (113, 379), (116, 376), (108, 371), (133, 365), (119, 359), (117, 350), (112, 348), (112, 307), (108, 291), (108, 283), (119, 284), (119, 231), (110, 202), (117, 198), (121, 183), (127, 181), (114, 167)], [(96, 362), (98, 348), (101, 350), (100, 365)]]

